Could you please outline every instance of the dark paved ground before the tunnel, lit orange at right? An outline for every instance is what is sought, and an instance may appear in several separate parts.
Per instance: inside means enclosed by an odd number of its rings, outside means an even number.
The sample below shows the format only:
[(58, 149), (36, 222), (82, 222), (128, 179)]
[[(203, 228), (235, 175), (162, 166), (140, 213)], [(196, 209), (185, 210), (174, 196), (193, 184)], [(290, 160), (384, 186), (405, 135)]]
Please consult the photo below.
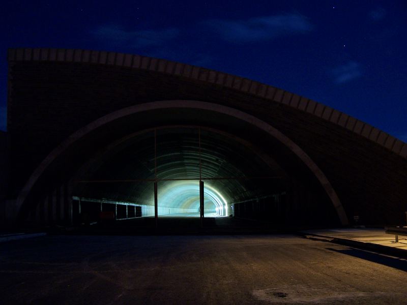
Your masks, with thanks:
[(1, 304), (405, 304), (407, 262), (293, 235), (0, 245)]

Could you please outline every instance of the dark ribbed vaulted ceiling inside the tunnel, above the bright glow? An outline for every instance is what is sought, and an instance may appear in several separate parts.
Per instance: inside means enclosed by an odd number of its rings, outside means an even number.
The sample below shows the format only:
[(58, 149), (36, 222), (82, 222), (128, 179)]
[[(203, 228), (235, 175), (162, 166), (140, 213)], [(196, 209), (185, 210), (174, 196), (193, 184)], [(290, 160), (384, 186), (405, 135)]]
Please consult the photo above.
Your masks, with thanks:
[(79, 179), (92, 182), (79, 182), (76, 194), (153, 204), (156, 161), (158, 179), (195, 179), (159, 181), (159, 194), (160, 190), (171, 186), (195, 184), (198, 187), (200, 171), (206, 187), (217, 190), (228, 202), (286, 190), (288, 176), (273, 159), (262, 160), (256, 154), (256, 148), (247, 147), (246, 142), (230, 138), (229, 134), (205, 128), (199, 130), (200, 136), (198, 127), (157, 129), (156, 160), (155, 132), (152, 130), (110, 147), (81, 170), (83, 174)]

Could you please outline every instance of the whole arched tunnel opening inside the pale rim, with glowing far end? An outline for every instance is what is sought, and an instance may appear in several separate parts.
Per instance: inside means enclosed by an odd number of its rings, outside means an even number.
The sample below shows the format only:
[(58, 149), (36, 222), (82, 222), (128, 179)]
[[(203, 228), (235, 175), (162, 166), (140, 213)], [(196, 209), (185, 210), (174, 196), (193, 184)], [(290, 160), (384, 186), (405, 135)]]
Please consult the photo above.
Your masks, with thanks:
[[(324, 174), (260, 120), (196, 101), (130, 108), (56, 148), (19, 197), (22, 214), (71, 223), (154, 216), (233, 216), (276, 227), (346, 222)], [(68, 200), (57, 207), (51, 194), (61, 186)]]

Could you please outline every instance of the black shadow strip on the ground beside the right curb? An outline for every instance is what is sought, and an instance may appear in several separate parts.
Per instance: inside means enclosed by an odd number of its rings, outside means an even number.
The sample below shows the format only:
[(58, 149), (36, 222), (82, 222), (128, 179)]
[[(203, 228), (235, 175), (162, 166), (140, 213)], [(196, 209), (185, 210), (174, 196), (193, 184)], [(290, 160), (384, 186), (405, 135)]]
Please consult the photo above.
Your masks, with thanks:
[(377, 264), (382, 264), (388, 267), (396, 268), (402, 271), (407, 271), (407, 261), (402, 258), (390, 257), (387, 255), (364, 251), (360, 249), (350, 248), (346, 250), (338, 250), (333, 248), (326, 248), (327, 250), (335, 251), (338, 253), (350, 255), (353, 257), (368, 260)]

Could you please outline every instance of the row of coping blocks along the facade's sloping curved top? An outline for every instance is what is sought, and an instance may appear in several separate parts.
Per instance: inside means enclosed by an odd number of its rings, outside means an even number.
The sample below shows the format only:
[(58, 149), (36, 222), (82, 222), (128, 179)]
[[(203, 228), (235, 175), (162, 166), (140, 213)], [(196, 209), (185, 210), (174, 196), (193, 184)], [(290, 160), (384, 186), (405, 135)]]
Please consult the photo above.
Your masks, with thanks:
[(236, 75), (148, 56), (82, 49), (9, 49), (8, 61), (65, 62), (115, 66), (169, 74), (175, 77), (205, 82), (208, 85), (221, 85), (322, 118), (331, 124), (345, 128), (371, 142), (379, 144), (404, 159), (407, 158), (407, 143), (382, 130), (322, 103)]

